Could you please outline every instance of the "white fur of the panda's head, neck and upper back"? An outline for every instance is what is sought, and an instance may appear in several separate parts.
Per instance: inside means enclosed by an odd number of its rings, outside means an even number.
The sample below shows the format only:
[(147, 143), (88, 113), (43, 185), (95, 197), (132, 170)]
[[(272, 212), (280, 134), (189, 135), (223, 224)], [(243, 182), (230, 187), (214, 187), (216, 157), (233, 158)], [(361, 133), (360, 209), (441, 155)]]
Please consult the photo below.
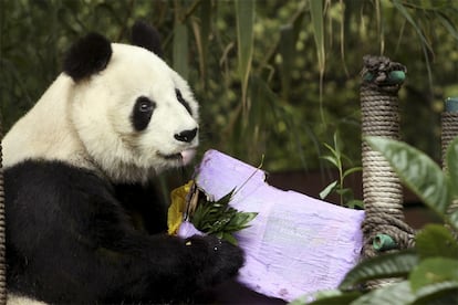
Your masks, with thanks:
[[(198, 104), (186, 81), (145, 49), (112, 48), (105, 70), (77, 83), (61, 74), (13, 126), (3, 139), (6, 167), (24, 159), (63, 160), (113, 181), (143, 181), (183, 162), (164, 156), (189, 156), (198, 137), (191, 143), (174, 138), (198, 128)], [(176, 88), (192, 116), (177, 101)], [(136, 132), (129, 116), (139, 96), (154, 101), (156, 109), (147, 128)]]

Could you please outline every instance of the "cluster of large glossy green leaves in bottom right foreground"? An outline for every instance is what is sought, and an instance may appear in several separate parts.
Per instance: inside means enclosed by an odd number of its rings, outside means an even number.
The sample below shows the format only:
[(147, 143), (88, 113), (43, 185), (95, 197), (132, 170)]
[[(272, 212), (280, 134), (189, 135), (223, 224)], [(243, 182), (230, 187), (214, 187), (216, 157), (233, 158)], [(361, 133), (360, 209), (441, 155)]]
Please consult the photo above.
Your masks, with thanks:
[[(361, 262), (346, 274), (339, 293), (316, 295), (312, 304), (326, 304), (327, 299), (333, 304), (339, 301), (342, 304), (457, 304), (458, 241), (451, 230), (458, 230), (458, 222), (448, 208), (457, 197), (458, 137), (449, 144), (446, 171), (407, 144), (379, 137), (368, 137), (366, 141), (388, 160), (403, 183), (449, 227), (425, 225), (416, 236), (414, 249)], [(393, 277), (399, 281), (371, 292), (357, 288), (369, 280)]]

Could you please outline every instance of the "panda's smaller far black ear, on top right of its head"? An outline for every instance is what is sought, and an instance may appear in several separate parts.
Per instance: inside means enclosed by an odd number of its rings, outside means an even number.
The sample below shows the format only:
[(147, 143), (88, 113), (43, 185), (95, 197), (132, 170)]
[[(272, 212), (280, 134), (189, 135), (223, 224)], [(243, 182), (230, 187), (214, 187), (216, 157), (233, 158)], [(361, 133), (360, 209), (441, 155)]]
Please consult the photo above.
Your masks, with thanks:
[(145, 48), (158, 56), (163, 55), (159, 33), (144, 21), (136, 21), (132, 27), (132, 44)]

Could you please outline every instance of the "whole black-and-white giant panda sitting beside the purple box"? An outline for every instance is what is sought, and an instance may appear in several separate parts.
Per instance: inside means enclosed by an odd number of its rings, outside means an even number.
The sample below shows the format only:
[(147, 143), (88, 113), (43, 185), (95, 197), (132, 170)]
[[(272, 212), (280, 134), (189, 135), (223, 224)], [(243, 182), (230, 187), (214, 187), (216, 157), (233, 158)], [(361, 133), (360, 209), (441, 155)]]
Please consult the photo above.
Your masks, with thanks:
[(189, 162), (198, 104), (134, 24), (132, 44), (90, 33), (2, 140), (8, 290), (51, 304), (191, 302), (233, 277), (242, 251), (167, 235), (152, 178)]

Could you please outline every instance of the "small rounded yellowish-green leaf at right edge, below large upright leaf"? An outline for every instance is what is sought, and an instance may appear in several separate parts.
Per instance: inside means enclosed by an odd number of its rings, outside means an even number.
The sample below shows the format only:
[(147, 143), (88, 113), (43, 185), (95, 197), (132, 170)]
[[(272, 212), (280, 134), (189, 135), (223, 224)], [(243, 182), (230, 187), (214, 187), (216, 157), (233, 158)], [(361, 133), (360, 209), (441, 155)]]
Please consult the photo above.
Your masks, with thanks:
[(416, 250), (420, 257), (458, 257), (458, 242), (450, 231), (440, 224), (427, 224), (416, 235)]

